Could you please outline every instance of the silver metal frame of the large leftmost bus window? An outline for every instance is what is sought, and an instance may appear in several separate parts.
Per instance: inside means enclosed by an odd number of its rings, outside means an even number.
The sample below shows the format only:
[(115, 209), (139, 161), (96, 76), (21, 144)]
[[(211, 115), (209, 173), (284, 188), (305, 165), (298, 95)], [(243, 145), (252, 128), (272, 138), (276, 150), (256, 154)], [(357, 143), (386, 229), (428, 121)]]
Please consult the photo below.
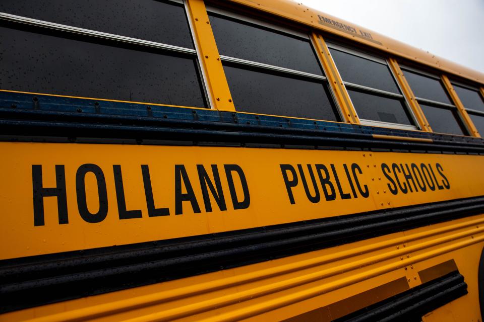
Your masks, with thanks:
[[(17, 23), (17, 24), (27, 24), (27, 25), (37, 27), (37, 28), (52, 29), (54, 31), (67, 32), (67, 33), (70, 33), (70, 34), (78, 34), (78, 35), (82, 35), (82, 36), (96, 37), (96, 38), (101, 38), (101, 39), (106, 39), (106, 40), (129, 43), (129, 44), (133, 44), (133, 45), (137, 45), (137, 46), (152, 47), (152, 48), (156, 48), (156, 49), (165, 50), (165, 51), (168, 51), (168, 52), (177, 52), (177, 53), (181, 53), (181, 54), (192, 55), (194, 60), (196, 61), (198, 73), (200, 75), (200, 78), (198, 78), (198, 81), (200, 82), (200, 85), (201, 85), (201, 88), (202, 88), (203, 99), (204, 99), (204, 101), (207, 105), (206, 109), (213, 109), (212, 101), (211, 101), (210, 96), (208, 95), (208, 92), (207, 92), (207, 88), (208, 88), (207, 87), (207, 77), (205, 75), (203, 68), (201, 67), (201, 64), (200, 64), (200, 61), (201, 61), (200, 60), (201, 58), (199, 56), (200, 51), (198, 50), (197, 42), (195, 41), (194, 30), (193, 30), (193, 26), (191, 24), (187, 4), (184, 0), (163, 0), (163, 1), (161, 1), (161, 3), (163, 3), (163, 2), (166, 2), (166, 3), (171, 2), (171, 3), (177, 4), (177, 5), (181, 5), (181, 7), (184, 9), (185, 17), (187, 18), (187, 23), (188, 23), (188, 26), (189, 26), (189, 29), (190, 29), (190, 36), (192, 37), (192, 42), (194, 44), (194, 49), (175, 46), (175, 45), (169, 45), (169, 44), (150, 41), (150, 40), (132, 38), (132, 37), (127, 37), (127, 36), (122, 36), (122, 35), (110, 34), (110, 33), (102, 32), (102, 31), (96, 31), (96, 30), (92, 30), (92, 29), (84, 29), (84, 28), (79, 28), (79, 27), (74, 27), (74, 26), (69, 26), (69, 25), (64, 25), (64, 24), (58, 24), (58, 23), (48, 22), (48, 21), (45, 21), (45, 20), (39, 20), (39, 19), (33, 19), (33, 18), (28, 18), (28, 17), (23, 17), (23, 16), (7, 14), (7, 13), (4, 13), (4, 12), (0, 12), (0, 21), (8, 21), (8, 22), (13, 22), (13, 23)], [(103, 99), (103, 98), (96, 98), (96, 99)], [(108, 101), (110, 101), (110, 100), (108, 100)], [(133, 103), (137, 103), (137, 102), (133, 102)], [(149, 103), (143, 102), (143, 104), (169, 105), (169, 104), (166, 104), (165, 102), (149, 102)], [(189, 107), (189, 106), (187, 106), (187, 107)], [(200, 107), (197, 107), (197, 108), (200, 108)]]

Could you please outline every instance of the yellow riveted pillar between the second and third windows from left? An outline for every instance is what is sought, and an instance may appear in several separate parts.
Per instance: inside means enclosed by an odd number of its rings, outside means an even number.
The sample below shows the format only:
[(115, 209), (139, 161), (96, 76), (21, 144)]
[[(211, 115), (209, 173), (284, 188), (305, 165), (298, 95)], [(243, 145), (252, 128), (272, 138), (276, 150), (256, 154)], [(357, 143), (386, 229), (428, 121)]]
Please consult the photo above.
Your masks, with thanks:
[(331, 53), (329, 52), (323, 37), (313, 33), (311, 39), (316, 47), (318, 57), (323, 64), (325, 75), (328, 77), (328, 83), (331, 89), (333, 89), (335, 99), (341, 109), (344, 120), (351, 124), (360, 124), (348, 92), (344, 88), (341, 75), (334, 64), (333, 57), (331, 57)]

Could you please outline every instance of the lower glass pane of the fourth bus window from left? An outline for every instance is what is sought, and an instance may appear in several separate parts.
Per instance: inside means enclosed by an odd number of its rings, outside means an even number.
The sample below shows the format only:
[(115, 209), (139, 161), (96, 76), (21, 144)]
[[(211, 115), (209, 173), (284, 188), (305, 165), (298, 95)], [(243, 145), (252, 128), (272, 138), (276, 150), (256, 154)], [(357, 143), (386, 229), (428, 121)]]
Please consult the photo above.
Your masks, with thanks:
[(457, 108), (434, 107), (422, 103), (420, 107), (434, 132), (467, 135)]

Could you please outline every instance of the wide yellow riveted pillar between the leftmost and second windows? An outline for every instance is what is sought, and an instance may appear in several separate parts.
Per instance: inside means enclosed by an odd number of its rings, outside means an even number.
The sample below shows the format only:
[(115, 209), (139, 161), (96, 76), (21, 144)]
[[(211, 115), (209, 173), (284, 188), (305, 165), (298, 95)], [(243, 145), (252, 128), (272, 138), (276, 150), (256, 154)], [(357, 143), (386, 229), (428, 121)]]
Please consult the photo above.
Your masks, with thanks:
[(235, 111), (205, 3), (203, 0), (187, 0), (186, 3), (212, 106), (217, 110)]

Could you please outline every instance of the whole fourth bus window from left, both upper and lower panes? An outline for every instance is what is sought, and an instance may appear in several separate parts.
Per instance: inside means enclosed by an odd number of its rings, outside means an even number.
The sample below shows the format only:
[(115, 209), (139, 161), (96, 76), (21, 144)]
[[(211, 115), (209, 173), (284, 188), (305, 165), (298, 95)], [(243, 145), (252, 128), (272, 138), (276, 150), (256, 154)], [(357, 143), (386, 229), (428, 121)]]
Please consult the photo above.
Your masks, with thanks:
[(434, 132), (467, 135), (438, 76), (403, 67), (403, 74)]

